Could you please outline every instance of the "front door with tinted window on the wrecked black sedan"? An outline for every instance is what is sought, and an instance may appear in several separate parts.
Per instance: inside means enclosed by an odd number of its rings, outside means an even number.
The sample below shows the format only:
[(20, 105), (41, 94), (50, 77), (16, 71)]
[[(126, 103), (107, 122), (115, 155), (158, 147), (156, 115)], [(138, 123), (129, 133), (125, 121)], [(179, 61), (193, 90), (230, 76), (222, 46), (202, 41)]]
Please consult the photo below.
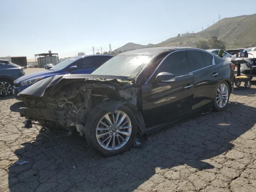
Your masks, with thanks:
[[(160, 72), (174, 74), (175, 81), (156, 82)], [(164, 58), (141, 90), (146, 127), (157, 126), (191, 112), (194, 75), (188, 73), (186, 52), (175, 51)]]

